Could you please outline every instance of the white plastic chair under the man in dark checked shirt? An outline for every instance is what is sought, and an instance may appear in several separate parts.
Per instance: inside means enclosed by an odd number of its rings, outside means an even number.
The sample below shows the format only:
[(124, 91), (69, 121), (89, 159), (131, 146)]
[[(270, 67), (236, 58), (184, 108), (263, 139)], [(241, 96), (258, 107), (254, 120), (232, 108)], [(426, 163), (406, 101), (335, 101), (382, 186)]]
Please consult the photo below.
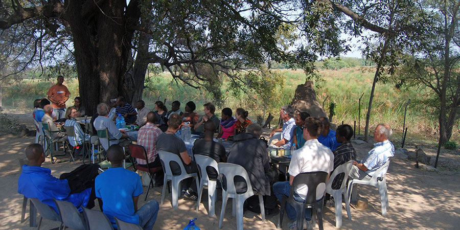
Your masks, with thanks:
[[(353, 166), (353, 160), (350, 160), (347, 163), (344, 163), (338, 166), (332, 175), (329, 177), (328, 182), (326, 183), (326, 193), (331, 194), (334, 197), (335, 203), (335, 226), (340, 227), (342, 226), (342, 194), (343, 198), (345, 199), (345, 210), (347, 210), (348, 219), (351, 220), (350, 214), (350, 200), (348, 199), (347, 193), (347, 179), (348, 175), (350, 174), (351, 167)], [(342, 184), (339, 189), (332, 189), (332, 182), (334, 181), (335, 177), (339, 174), (344, 173)]]

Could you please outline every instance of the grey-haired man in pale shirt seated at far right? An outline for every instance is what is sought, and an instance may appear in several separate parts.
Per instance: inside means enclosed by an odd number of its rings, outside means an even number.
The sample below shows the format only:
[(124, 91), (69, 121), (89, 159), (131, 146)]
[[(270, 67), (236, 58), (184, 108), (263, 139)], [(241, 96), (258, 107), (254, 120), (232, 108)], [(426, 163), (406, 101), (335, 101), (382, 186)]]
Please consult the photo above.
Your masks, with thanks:
[[(390, 157), (395, 155), (395, 147), (388, 141), (388, 138), (392, 135), (393, 130), (388, 124), (378, 124), (375, 128), (374, 140), (377, 143), (374, 144), (374, 148), (369, 151), (366, 157), (360, 161), (354, 161), (352, 170), (350, 171), (351, 178), (369, 180), (374, 175), (375, 171), (384, 165)], [(387, 169), (380, 172), (380, 176), (386, 173)]]

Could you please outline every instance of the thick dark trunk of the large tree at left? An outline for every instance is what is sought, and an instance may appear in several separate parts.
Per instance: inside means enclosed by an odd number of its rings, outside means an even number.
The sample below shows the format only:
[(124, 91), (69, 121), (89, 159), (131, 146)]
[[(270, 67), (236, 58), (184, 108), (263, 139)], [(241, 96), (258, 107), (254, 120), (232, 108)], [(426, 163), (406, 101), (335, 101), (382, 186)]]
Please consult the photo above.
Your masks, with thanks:
[[(132, 0), (126, 9), (124, 1), (98, 2), (96, 14), (83, 15), (89, 2), (65, 1), (65, 11), (72, 36), (78, 73), (80, 97), (88, 114), (96, 105), (125, 96), (124, 74), (131, 50), (133, 31), (127, 21), (139, 19), (139, 3)], [(96, 4), (96, 2), (94, 2)]]

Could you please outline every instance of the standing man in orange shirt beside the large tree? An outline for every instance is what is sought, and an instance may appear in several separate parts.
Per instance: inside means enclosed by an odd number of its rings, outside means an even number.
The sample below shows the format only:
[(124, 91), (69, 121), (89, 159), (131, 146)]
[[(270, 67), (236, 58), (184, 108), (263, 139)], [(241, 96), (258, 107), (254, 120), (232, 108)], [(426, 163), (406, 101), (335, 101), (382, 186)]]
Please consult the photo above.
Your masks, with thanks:
[(68, 100), (70, 92), (67, 87), (63, 85), (64, 77), (59, 76), (58, 82), (51, 86), (48, 90), (48, 100), (51, 101), (53, 111), (56, 113), (56, 119), (62, 119), (65, 117), (65, 102)]

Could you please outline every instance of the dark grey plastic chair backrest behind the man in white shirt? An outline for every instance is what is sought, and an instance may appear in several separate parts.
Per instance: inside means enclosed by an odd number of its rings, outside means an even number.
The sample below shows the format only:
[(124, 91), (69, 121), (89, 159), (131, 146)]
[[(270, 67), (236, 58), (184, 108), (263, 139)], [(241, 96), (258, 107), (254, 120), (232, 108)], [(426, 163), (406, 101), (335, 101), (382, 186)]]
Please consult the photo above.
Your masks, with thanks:
[[(291, 192), (289, 193), (289, 199), (294, 197), (295, 188), (299, 185), (306, 185), (308, 187), (306, 204), (316, 203), (316, 190), (321, 183), (326, 184), (328, 178), (327, 172), (305, 172), (297, 174), (292, 181)], [(314, 188), (314, 189), (312, 189)], [(324, 191), (323, 191), (324, 193)]]

